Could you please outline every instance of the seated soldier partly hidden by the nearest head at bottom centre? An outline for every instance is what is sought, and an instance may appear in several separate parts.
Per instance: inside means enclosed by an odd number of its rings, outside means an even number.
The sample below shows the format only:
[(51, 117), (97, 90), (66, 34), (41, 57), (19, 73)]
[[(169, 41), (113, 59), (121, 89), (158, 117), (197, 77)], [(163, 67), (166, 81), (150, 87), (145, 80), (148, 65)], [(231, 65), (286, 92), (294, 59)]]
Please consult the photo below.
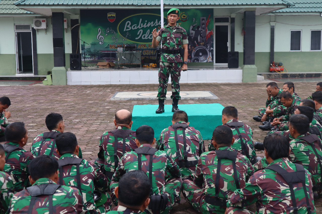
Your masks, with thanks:
[(143, 125), (137, 129), (135, 142), (138, 148), (125, 153), (113, 175), (110, 184), (112, 200), (117, 204), (115, 187), (118, 186), (120, 177), (129, 171), (142, 170), (149, 176), (151, 184), (151, 200), (145, 213), (167, 214), (175, 203), (180, 203), (180, 168), (165, 151), (152, 147), (156, 138), (150, 126)]

